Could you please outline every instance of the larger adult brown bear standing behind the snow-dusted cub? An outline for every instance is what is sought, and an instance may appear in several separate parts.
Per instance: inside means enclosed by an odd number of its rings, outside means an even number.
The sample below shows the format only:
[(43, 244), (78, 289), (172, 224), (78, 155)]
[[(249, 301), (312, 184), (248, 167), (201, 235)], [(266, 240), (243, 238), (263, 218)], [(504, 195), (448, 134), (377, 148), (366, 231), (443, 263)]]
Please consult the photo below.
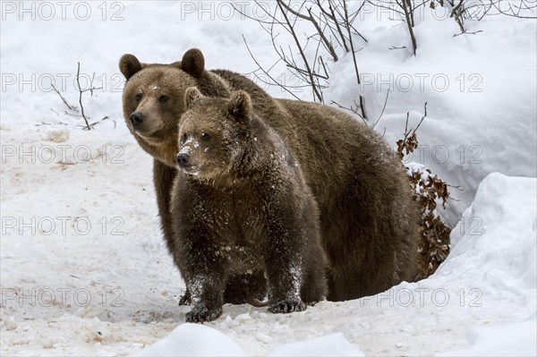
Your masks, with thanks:
[[(293, 150), (317, 201), (320, 237), (328, 256), (328, 300), (356, 299), (412, 281), (419, 211), (403, 167), (386, 141), (337, 109), (274, 99), (240, 74), (206, 71), (204, 66), (203, 55), (195, 49), (185, 53), (182, 62), (169, 65), (140, 64), (133, 55), (120, 61), (127, 79), (125, 120), (141, 147), (155, 157), (154, 181), (170, 251), (175, 242), (169, 198), (177, 127), (185, 111), (182, 96), (191, 86), (214, 98), (229, 98), (234, 90), (243, 89), (251, 95), (253, 111)], [(175, 263), (180, 267), (176, 259)], [(241, 289), (248, 278), (228, 280), (236, 284), (226, 287), (226, 294), (233, 293), (225, 301), (247, 301), (243, 297), (251, 292)], [(261, 276), (254, 281), (260, 283), (253, 285), (262, 285)]]

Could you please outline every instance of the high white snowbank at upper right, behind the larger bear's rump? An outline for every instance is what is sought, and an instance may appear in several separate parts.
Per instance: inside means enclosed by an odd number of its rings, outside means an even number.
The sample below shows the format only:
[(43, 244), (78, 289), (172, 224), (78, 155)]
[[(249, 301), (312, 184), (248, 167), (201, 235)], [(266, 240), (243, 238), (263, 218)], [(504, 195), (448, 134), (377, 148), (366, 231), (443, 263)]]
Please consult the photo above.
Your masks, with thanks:
[[(386, 130), (392, 145), (403, 137), (406, 112), (409, 127), (415, 127), (427, 102), (428, 117), (417, 132), (419, 149), (405, 160), (424, 164), (464, 189), (451, 189), (456, 201), (441, 212), (453, 226), (487, 174), (537, 176), (537, 22), (502, 19), (500, 25), (491, 16), (465, 22), (470, 31), (482, 30), (479, 34), (453, 37), (458, 29), (452, 19), (439, 21), (438, 13), (435, 19), (425, 12), (420, 20), (415, 57), (408, 50), (387, 50), (408, 46), (404, 23), (389, 21), (386, 14), (361, 22), (369, 42), (360, 43), (359, 88), (374, 120), (390, 90), (376, 128)], [(353, 66), (350, 57), (334, 64), (326, 91), (344, 106), (353, 103), (359, 89), (348, 74)]]

